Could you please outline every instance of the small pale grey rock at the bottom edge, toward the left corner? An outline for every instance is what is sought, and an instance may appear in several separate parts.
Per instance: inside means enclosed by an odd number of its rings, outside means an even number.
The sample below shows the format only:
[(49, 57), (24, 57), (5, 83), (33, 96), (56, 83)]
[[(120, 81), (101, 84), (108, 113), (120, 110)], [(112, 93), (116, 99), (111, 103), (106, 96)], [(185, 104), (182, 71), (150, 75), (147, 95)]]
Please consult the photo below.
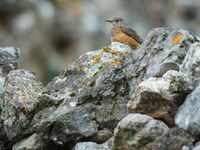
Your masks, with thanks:
[(45, 143), (39, 134), (33, 134), (19, 142), (17, 142), (12, 150), (42, 150)]

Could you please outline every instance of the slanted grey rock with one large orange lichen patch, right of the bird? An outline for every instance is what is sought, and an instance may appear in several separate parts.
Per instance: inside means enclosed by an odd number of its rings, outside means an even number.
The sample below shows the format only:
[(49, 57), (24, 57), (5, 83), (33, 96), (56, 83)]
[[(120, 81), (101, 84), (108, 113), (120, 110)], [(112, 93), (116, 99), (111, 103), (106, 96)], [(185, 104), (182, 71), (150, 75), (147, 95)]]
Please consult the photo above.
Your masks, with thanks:
[(129, 79), (130, 94), (149, 77), (162, 77), (168, 70), (179, 71), (188, 49), (196, 41), (192, 33), (183, 29), (152, 29), (134, 55), (126, 57), (123, 71)]

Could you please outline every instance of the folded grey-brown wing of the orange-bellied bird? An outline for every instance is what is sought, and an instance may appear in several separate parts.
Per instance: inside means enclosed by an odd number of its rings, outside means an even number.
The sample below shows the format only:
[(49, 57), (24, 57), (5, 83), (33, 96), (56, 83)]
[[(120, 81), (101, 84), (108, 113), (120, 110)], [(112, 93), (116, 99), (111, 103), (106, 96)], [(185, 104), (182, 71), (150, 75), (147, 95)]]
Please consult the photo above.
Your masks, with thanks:
[(138, 43), (142, 44), (143, 40), (142, 38), (135, 32), (135, 30), (131, 29), (128, 26), (122, 26), (122, 31), (129, 35), (130, 37), (134, 38)]

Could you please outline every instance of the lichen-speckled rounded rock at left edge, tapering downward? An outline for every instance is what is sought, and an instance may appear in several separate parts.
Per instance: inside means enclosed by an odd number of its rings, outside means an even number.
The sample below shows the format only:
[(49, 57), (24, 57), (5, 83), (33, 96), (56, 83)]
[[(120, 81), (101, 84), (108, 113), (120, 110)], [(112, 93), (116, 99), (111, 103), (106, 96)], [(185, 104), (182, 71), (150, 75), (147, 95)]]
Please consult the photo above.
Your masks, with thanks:
[(30, 124), (41, 89), (42, 84), (35, 75), (26, 70), (13, 70), (8, 74), (0, 106), (4, 130), (9, 140), (20, 138)]

